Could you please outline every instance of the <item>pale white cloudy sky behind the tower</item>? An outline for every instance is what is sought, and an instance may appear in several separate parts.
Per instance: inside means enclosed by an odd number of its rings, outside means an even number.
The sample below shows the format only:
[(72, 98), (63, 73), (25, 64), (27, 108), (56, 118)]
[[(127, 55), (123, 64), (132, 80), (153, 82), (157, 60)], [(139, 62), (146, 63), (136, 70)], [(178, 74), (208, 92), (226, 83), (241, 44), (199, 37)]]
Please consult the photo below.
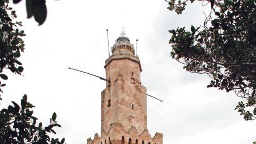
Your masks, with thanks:
[(34, 114), (44, 124), (53, 112), (62, 125), (58, 137), (68, 144), (86, 143), (100, 132), (100, 101), (104, 81), (68, 70), (74, 67), (104, 77), (110, 46), (122, 26), (136, 44), (142, 65), (142, 84), (147, 93), (148, 129), (163, 133), (163, 143), (245, 144), (256, 140), (255, 122), (243, 120), (234, 107), (232, 92), (206, 88), (209, 77), (192, 74), (170, 58), (168, 30), (190, 28), (204, 20), (201, 2), (189, 4), (182, 15), (169, 12), (164, 0), (47, 0), (48, 15), (42, 26), (26, 19), (25, 0), (13, 6), (24, 24), (26, 51), (22, 76), (9, 74), (1, 96), (1, 108), (19, 102), (23, 94), (36, 107)]

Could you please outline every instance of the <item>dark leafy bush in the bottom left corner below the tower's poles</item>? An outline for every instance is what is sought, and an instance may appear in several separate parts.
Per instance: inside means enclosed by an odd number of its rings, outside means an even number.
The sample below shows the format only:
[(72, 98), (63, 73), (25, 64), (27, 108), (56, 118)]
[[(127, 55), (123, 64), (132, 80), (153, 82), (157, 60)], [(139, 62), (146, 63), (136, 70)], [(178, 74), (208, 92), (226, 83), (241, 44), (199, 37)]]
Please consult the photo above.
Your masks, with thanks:
[[(54, 127), (61, 127), (56, 122), (56, 113), (53, 113), (50, 124), (43, 127), (42, 123), (37, 123), (37, 118), (33, 116), (33, 105), (27, 102), (27, 96), (21, 99), (21, 106), (12, 102), (13, 106), (0, 111), (0, 143), (1, 144), (63, 144), (58, 138), (50, 138), (49, 133), (56, 132)], [(54, 118), (54, 119), (53, 119)]]

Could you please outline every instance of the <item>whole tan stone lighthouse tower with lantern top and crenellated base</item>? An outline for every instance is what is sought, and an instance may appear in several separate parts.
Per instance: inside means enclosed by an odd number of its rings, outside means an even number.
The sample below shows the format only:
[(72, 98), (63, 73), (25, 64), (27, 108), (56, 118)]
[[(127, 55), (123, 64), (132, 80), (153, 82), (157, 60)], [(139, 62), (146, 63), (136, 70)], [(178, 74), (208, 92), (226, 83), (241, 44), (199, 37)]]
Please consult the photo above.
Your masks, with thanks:
[(147, 130), (146, 88), (141, 85), (141, 63), (125, 33), (121, 33), (105, 62), (106, 88), (101, 93), (101, 136), (87, 144), (162, 144)]

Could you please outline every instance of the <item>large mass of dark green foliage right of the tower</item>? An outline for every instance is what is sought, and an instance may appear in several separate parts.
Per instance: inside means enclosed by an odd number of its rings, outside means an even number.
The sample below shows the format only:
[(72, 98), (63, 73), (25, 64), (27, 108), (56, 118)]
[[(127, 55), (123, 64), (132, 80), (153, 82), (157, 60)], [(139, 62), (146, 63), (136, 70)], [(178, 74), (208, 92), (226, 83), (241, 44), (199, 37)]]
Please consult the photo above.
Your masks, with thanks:
[[(172, 58), (184, 64), (189, 72), (208, 74), (209, 87), (216, 87), (242, 97), (236, 110), (244, 120), (256, 118), (256, 1), (207, 0), (211, 13), (203, 25), (170, 30)], [(186, 2), (186, 1), (185, 1)], [(177, 14), (185, 2), (169, 2)], [(191, 1), (193, 2), (193, 1)], [(179, 4), (185, 3), (185, 4)], [(208, 5), (209, 6), (209, 5)]]

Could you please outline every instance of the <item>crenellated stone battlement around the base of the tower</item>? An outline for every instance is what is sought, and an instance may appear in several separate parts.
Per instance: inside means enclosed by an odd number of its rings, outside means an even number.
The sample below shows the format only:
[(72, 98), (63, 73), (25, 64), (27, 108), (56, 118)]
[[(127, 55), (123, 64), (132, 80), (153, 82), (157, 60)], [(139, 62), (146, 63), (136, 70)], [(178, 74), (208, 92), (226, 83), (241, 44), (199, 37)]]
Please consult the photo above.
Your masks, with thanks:
[(163, 144), (163, 134), (156, 133), (151, 137), (147, 129), (139, 134), (133, 126), (125, 131), (121, 123), (114, 122), (107, 133), (102, 137), (96, 133), (93, 140), (87, 139), (87, 144)]

